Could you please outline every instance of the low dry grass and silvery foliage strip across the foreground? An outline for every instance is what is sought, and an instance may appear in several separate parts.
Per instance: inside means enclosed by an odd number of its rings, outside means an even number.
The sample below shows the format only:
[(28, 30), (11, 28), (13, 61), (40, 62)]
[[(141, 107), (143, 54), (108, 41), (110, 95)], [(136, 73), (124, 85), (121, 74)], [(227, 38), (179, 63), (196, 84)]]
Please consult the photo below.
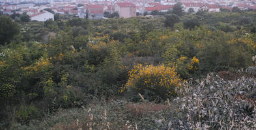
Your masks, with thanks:
[(171, 102), (93, 99), (87, 107), (59, 109), (40, 122), (12, 129), (256, 129), (255, 78), (248, 77), (251, 72), (239, 74), (235, 81), (216, 73), (189, 80)]

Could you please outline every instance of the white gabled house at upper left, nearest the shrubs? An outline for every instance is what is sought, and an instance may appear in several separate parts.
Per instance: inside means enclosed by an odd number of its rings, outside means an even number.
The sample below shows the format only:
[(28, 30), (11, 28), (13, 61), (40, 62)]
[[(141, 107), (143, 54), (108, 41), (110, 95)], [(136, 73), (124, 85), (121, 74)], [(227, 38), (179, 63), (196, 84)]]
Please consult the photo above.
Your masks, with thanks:
[(31, 17), (31, 21), (46, 21), (48, 19), (53, 19), (54, 20), (54, 14), (51, 14), (48, 11), (42, 11), (38, 12), (36, 14), (33, 14)]

